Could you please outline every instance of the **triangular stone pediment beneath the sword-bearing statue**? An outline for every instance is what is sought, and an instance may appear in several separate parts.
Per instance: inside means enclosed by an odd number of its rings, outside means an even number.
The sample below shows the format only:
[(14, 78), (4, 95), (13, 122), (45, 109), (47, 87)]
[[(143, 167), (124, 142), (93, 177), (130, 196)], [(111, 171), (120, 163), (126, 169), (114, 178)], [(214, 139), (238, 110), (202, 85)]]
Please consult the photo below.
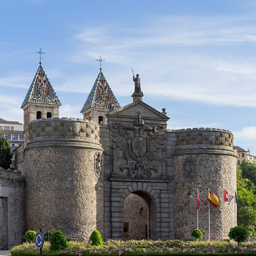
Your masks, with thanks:
[(137, 118), (138, 115), (145, 120), (161, 120), (162, 122), (167, 122), (169, 120), (169, 117), (164, 113), (157, 111), (141, 100), (132, 102), (131, 104), (107, 114), (109, 120), (117, 120), (119, 117), (121, 119), (131, 119), (131, 121), (134, 118)]

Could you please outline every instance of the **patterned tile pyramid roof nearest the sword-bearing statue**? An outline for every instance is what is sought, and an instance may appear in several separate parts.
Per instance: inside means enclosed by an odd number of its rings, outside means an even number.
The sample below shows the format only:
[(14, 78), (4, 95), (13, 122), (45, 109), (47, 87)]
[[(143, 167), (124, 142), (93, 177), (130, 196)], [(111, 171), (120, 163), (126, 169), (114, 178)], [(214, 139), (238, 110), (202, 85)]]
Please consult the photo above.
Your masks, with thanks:
[(109, 108), (110, 103), (112, 103), (113, 109), (120, 108), (114, 93), (100, 70), (99, 75), (93, 84), (93, 88), (84, 103), (81, 113), (88, 108)]

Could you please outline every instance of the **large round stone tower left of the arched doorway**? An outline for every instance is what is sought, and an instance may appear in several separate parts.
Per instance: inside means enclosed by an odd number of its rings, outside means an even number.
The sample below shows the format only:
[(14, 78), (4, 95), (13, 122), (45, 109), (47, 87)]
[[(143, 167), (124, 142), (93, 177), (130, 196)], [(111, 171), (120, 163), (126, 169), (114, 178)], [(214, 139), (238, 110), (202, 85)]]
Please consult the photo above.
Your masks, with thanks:
[(94, 121), (48, 118), (29, 124), (27, 230), (61, 230), (80, 241), (95, 229), (104, 235), (102, 152)]

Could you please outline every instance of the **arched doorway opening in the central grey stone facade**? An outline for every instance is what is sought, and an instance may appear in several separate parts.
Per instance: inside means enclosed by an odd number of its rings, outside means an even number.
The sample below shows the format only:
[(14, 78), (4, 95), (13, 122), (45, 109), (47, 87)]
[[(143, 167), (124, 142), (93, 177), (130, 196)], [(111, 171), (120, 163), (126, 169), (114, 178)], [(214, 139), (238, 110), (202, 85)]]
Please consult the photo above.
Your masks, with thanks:
[(129, 194), (124, 201), (124, 240), (154, 239), (154, 204), (141, 191)]

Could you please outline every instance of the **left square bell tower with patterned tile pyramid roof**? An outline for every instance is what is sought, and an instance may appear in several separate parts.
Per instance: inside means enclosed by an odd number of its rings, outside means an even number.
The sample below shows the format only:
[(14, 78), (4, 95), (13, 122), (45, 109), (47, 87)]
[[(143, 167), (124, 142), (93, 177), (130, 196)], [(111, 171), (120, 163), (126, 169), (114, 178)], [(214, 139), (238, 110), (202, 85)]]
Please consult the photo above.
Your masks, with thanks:
[(58, 109), (61, 106), (61, 102), (41, 66), (41, 61), (39, 64), (32, 84), (21, 105), (24, 111), (24, 148), (29, 142), (29, 123), (35, 119), (59, 117)]

